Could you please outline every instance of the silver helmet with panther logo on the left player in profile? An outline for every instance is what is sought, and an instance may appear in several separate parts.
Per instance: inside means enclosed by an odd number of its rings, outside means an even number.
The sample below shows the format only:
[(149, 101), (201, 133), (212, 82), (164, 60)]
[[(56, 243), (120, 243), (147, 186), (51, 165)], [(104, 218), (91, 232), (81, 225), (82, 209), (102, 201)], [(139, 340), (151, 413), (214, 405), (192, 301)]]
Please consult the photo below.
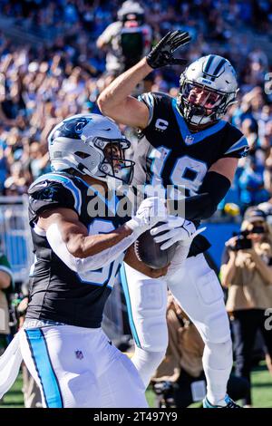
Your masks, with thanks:
[(131, 146), (118, 126), (99, 114), (78, 114), (57, 124), (49, 137), (54, 171), (71, 170), (109, 182), (131, 183), (134, 162), (125, 158)]

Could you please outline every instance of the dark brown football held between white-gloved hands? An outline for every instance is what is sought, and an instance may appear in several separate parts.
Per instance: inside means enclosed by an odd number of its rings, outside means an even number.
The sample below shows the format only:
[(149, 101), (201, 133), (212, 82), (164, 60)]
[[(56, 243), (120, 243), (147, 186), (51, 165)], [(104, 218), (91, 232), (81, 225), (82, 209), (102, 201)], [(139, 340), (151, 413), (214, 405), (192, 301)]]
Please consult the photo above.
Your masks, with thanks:
[[(162, 224), (163, 222), (159, 222), (156, 227)], [(157, 236), (159, 235), (157, 234)], [(141, 262), (150, 266), (152, 269), (160, 269), (161, 267), (168, 266), (174, 257), (178, 243), (173, 244), (173, 246), (166, 250), (160, 250), (161, 244), (163, 243), (156, 243), (154, 241), (154, 237), (151, 236), (151, 229), (149, 229), (135, 241), (135, 254)]]

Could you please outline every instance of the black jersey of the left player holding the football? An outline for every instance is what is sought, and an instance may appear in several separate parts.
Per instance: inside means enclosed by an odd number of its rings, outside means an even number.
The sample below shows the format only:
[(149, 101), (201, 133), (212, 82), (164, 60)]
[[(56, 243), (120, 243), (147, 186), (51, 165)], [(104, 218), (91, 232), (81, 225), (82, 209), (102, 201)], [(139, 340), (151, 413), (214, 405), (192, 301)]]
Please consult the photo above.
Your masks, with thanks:
[[(83, 179), (66, 173), (48, 173), (36, 179), (29, 196), (35, 261), (26, 317), (83, 327), (101, 326), (103, 307), (124, 255), (108, 266), (79, 275), (53, 253), (36, 221), (45, 209), (72, 208), (89, 234), (97, 235), (118, 228), (126, 218), (116, 217), (107, 201)], [(99, 211), (104, 207), (103, 217), (94, 217), (97, 203)]]

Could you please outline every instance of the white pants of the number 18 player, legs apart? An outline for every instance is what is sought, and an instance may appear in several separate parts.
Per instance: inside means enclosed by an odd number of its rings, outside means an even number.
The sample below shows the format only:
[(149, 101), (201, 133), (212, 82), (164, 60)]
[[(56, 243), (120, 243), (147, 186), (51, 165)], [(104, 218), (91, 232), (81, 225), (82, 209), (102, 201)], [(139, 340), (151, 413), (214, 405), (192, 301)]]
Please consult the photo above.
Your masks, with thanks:
[(167, 287), (199, 330), (205, 343), (203, 369), (209, 402), (218, 404), (226, 396), (232, 367), (232, 343), (223, 291), (219, 280), (200, 254), (189, 257), (176, 280), (154, 279), (125, 265), (121, 282), (137, 345), (131, 358), (148, 385), (168, 345), (166, 324)]

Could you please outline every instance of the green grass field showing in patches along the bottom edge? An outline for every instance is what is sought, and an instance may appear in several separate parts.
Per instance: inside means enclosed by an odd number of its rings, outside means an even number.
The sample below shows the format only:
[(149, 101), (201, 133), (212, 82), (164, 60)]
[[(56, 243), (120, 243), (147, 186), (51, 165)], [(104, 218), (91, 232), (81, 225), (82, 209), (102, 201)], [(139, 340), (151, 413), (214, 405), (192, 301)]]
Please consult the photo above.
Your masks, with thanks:
[[(272, 408), (272, 377), (267, 372), (266, 364), (260, 363), (254, 368), (252, 372), (252, 394), (253, 404), (257, 408)], [(10, 392), (5, 394), (4, 402), (1, 403), (0, 408), (22, 408), (23, 394), (22, 394), (22, 376), (19, 375), (14, 386)], [(154, 407), (154, 393), (151, 390), (147, 391), (147, 399), (151, 407)], [(199, 402), (191, 405), (191, 407), (198, 407)]]

